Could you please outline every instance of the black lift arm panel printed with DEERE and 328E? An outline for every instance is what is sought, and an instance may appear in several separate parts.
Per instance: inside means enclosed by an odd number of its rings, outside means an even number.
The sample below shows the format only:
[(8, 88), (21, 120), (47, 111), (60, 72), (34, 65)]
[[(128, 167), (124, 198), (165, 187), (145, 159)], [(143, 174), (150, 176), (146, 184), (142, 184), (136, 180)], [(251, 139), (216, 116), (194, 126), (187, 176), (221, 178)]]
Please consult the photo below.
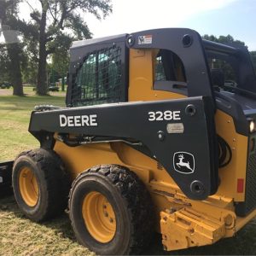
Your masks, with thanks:
[(38, 140), (42, 131), (136, 140), (165, 166), (185, 195), (203, 200), (218, 189), (211, 100), (198, 96), (33, 112), (29, 131)]

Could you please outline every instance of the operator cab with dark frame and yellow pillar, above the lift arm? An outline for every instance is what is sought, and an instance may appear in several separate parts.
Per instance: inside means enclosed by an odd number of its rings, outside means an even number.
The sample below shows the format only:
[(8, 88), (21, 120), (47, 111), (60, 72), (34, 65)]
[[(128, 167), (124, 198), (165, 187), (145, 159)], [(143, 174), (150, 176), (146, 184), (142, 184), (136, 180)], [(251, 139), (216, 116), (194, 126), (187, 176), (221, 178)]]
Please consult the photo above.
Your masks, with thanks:
[(249, 134), (247, 119), (256, 119), (256, 78), (247, 48), (203, 40), (190, 29), (74, 42), (68, 84), (67, 107), (207, 96), (243, 135)]

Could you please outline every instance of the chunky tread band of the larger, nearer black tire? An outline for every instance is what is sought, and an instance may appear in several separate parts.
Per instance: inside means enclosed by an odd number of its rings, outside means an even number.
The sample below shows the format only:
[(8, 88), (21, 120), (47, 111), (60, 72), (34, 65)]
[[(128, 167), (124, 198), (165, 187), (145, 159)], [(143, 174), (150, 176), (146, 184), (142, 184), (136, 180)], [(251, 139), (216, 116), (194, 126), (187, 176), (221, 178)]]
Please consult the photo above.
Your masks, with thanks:
[[(131, 172), (124, 166), (94, 166), (85, 172), (81, 172), (73, 181), (72, 189), (69, 193), (69, 208), (71, 206), (73, 188), (81, 179), (90, 175), (90, 173), (98, 173), (102, 177), (108, 178), (108, 181), (119, 190), (119, 194), (127, 202), (127, 209), (131, 216), (133, 230), (131, 232), (130, 245), (124, 254), (141, 253), (143, 248), (151, 241), (154, 225), (153, 204), (145, 185), (134, 172)], [(73, 225), (72, 216), (70, 218)]]

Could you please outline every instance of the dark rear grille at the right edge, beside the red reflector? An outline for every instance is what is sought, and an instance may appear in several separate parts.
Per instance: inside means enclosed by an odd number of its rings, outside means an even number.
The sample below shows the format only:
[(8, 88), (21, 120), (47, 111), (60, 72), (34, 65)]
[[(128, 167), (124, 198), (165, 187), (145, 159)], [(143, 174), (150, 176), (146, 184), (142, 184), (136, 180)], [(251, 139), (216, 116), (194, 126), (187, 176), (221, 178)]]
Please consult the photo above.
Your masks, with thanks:
[(256, 208), (256, 153), (250, 154), (247, 162), (245, 201), (236, 205), (236, 214), (246, 216)]

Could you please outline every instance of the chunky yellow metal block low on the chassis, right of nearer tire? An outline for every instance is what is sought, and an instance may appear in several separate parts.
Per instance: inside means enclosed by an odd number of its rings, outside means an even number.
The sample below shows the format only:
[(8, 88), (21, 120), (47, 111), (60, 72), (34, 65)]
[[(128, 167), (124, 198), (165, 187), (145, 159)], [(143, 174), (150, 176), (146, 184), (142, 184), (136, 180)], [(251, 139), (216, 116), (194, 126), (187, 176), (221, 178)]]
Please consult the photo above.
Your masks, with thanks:
[(164, 248), (168, 251), (210, 245), (225, 235), (225, 223), (195, 210), (160, 212)]

